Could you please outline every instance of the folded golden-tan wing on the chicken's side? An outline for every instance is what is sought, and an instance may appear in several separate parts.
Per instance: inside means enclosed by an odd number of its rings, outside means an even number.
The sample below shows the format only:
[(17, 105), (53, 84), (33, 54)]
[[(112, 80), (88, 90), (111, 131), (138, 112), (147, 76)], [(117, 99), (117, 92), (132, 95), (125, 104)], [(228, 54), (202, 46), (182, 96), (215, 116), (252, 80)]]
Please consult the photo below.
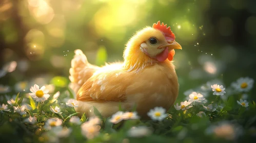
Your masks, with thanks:
[(113, 63), (97, 70), (78, 90), (80, 101), (124, 101), (126, 88), (132, 74), (123, 69), (122, 63)]

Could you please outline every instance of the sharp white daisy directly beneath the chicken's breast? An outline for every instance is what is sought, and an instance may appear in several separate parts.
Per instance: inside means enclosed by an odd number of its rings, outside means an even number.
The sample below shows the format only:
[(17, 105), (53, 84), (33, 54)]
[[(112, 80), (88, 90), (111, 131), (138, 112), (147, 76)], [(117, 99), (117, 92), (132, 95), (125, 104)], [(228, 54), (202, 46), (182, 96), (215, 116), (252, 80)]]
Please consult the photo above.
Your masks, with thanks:
[(149, 110), (147, 115), (150, 116), (154, 121), (162, 121), (167, 117), (165, 111), (166, 110), (163, 107), (154, 107), (154, 109)]

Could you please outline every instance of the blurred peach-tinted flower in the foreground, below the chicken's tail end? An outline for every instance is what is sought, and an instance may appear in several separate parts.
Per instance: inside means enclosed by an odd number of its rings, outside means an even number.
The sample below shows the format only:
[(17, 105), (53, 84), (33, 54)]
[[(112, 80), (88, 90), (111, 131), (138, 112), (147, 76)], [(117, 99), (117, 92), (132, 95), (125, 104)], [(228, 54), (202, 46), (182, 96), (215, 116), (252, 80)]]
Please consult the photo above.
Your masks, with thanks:
[(84, 135), (88, 139), (92, 139), (95, 136), (99, 135), (100, 129), (101, 129), (101, 126), (99, 125), (88, 126), (88, 124), (86, 123), (81, 125), (82, 135)]

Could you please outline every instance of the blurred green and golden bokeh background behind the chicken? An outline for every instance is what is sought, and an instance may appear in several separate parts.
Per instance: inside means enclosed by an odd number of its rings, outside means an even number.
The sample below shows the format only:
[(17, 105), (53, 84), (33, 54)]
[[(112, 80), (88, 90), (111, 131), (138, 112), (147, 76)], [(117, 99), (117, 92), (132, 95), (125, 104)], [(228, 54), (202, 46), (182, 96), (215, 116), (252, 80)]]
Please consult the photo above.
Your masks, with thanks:
[(128, 39), (159, 20), (183, 47), (174, 56), (180, 97), (214, 79), (256, 79), (254, 0), (1, 0), (0, 92), (65, 88), (75, 49), (92, 64), (123, 61)]

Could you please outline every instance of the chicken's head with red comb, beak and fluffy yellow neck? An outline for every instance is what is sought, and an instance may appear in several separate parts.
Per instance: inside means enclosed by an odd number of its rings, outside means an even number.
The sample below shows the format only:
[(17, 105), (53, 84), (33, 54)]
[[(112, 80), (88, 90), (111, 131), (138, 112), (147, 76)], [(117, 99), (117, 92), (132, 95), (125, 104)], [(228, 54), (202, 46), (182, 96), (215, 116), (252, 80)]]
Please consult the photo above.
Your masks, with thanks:
[[(128, 41), (124, 52), (125, 64), (135, 62), (156, 63), (166, 59), (172, 60), (175, 54), (174, 49), (182, 49), (175, 41), (175, 36), (164, 23), (153, 24), (153, 27), (146, 27)], [(128, 63), (132, 62), (132, 63)]]

